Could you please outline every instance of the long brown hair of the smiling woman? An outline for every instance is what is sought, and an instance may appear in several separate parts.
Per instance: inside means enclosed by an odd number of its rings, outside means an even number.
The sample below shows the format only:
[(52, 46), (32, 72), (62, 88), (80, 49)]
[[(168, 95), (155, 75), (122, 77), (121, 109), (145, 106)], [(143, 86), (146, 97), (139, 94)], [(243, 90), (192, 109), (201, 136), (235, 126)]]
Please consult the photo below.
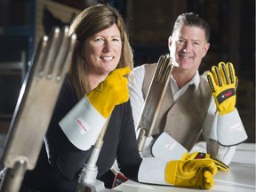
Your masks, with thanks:
[(119, 28), (122, 40), (121, 58), (116, 68), (133, 68), (132, 48), (124, 27), (124, 20), (115, 8), (108, 4), (97, 4), (86, 8), (81, 12), (70, 26), (70, 34), (76, 33), (77, 44), (68, 69), (68, 75), (76, 95), (80, 100), (85, 93), (91, 92), (87, 79), (87, 65), (84, 62), (84, 41), (90, 36), (110, 28), (116, 24)]

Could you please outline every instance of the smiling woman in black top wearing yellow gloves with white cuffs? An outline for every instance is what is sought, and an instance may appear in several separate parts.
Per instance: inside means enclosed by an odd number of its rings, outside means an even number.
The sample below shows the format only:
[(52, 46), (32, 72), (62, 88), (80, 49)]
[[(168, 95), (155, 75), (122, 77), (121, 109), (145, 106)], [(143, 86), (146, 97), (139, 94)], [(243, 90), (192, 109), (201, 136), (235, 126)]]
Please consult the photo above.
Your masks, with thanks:
[[(70, 27), (70, 33), (74, 32), (77, 44), (67, 79), (36, 168), (26, 172), (21, 190), (75, 191), (79, 173), (100, 134), (99, 127), (110, 115), (96, 164), (97, 179), (109, 183), (108, 171), (116, 159), (120, 171), (130, 180), (212, 188), (212, 176), (217, 168), (210, 158), (194, 160), (188, 156), (188, 161), (185, 158), (168, 163), (156, 158), (142, 161), (134, 131), (128, 80), (124, 77), (132, 68), (132, 50), (124, 21), (116, 9), (108, 5), (85, 9)], [(84, 114), (80, 116), (77, 111)], [(76, 121), (72, 118), (74, 112), (79, 114)]]

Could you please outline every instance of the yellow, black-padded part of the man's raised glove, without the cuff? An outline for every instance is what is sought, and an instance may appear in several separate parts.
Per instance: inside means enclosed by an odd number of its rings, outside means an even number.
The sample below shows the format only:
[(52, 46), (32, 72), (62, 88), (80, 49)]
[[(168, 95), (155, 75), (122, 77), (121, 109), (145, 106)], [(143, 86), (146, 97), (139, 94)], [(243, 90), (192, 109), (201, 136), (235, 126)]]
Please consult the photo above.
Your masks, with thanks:
[(233, 64), (220, 62), (206, 74), (219, 115), (235, 110), (238, 79)]

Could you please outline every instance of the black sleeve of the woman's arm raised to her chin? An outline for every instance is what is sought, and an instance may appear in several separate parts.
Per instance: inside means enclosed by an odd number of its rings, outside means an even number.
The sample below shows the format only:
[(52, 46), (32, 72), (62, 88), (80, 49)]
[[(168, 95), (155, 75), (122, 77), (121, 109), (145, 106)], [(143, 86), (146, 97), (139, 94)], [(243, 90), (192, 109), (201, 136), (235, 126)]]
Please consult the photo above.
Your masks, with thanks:
[(59, 125), (61, 118), (76, 105), (77, 101), (71, 85), (65, 82), (61, 88), (48, 132), (44, 138), (44, 145), (52, 170), (68, 181), (76, 178), (77, 173), (90, 155), (90, 150), (82, 151), (76, 148), (62, 132)]

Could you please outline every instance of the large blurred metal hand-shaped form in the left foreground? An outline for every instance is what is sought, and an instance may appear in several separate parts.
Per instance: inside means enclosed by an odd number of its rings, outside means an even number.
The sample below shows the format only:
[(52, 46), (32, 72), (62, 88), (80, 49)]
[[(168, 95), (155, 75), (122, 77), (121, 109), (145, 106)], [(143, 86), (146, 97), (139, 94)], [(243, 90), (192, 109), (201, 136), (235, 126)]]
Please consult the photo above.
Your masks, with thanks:
[(52, 28), (50, 36), (44, 36), (37, 46), (5, 143), (1, 192), (18, 192), (26, 170), (36, 166), (76, 44), (76, 34), (69, 36), (68, 31), (68, 27)]

